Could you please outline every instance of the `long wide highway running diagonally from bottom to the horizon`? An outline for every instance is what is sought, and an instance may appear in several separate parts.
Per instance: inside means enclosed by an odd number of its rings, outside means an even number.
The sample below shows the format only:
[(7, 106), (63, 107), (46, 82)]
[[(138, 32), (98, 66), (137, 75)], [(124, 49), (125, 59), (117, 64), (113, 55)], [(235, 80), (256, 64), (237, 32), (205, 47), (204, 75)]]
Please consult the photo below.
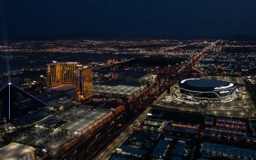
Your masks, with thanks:
[[(134, 124), (138, 117), (143, 115), (147, 107), (152, 104), (164, 90), (176, 83), (177, 80), (180, 80), (180, 75), (184, 71), (190, 70), (191, 66), (194, 66), (194, 63), (198, 62), (203, 55), (207, 54), (217, 42), (218, 41), (204, 48), (202, 52), (194, 54), (190, 61), (175, 70), (167, 69), (158, 71), (158, 80), (149, 85), (139, 96), (130, 99), (130, 102), (126, 103), (124, 112), (113, 117), (111, 121), (106, 122), (90, 135), (82, 136), (74, 147), (70, 147), (70, 149), (66, 150), (66, 153), (63, 153), (55, 159), (83, 160), (107, 158), (111, 152), (110, 150), (118, 145), (118, 143), (115, 143), (117, 137), (121, 136), (121, 140), (124, 140), (126, 134), (121, 134), (130, 130), (132, 124)], [(106, 152), (103, 152), (104, 150)]]

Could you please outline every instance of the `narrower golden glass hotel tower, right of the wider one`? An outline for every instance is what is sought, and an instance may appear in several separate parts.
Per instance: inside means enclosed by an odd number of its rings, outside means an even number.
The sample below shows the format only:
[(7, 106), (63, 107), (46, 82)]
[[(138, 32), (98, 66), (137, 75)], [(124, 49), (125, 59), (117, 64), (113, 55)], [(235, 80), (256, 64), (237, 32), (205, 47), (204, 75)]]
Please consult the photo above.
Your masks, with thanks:
[(79, 66), (76, 89), (80, 99), (89, 98), (93, 95), (93, 71), (91, 67)]

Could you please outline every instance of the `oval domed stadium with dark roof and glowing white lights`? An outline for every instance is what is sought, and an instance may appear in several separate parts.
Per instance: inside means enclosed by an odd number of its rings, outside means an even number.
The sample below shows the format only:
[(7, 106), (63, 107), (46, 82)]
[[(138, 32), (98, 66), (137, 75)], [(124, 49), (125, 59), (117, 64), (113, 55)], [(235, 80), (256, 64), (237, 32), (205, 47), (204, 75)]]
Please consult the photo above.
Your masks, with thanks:
[(235, 84), (222, 80), (185, 79), (179, 82), (181, 95), (187, 98), (220, 100), (231, 97)]

